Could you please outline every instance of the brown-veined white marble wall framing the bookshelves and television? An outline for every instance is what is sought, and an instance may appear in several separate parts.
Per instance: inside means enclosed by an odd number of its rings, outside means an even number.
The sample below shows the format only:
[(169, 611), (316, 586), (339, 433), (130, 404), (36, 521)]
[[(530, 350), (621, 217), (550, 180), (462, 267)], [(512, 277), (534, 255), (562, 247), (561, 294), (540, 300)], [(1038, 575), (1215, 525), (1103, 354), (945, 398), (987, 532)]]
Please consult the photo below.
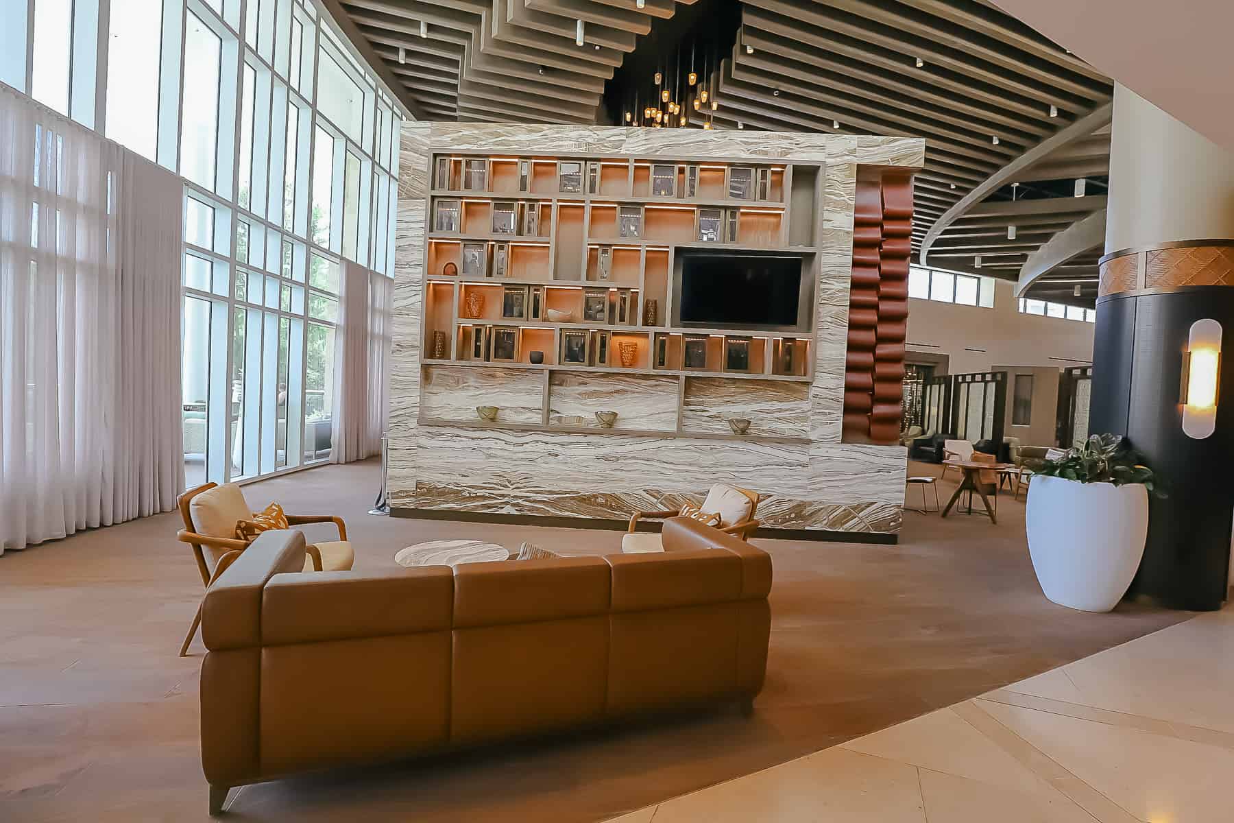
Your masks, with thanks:
[[(400, 148), (389, 465), (389, 496), (395, 513), (436, 510), (624, 521), (636, 510), (697, 502), (711, 484), (729, 481), (763, 495), (759, 518), (768, 527), (882, 534), (898, 531), (905, 449), (840, 442), (853, 196), (858, 165), (919, 168), (923, 141), (407, 122)], [(813, 260), (816, 287), (812, 383), (597, 375), (613, 387), (608, 406), (621, 415), (618, 428), (637, 432), (601, 434), (474, 423), (421, 427), (421, 418), (437, 418), (439, 410), (454, 410), (452, 418), (454, 413), (466, 418), (470, 406), (479, 405), (437, 396), (454, 381), (459, 386), (475, 385), (453, 374), (466, 371), (466, 366), (444, 366), (448, 370), (438, 374), (443, 366), (420, 363), (426, 175), (433, 151), (816, 164), (821, 169), (816, 191), (821, 209), (813, 217), (812, 236), (819, 246), (807, 257)], [(528, 371), (543, 381), (540, 371)], [(554, 373), (552, 385), (543, 385), (550, 418), (589, 417), (594, 412), (600, 381), (594, 385), (586, 376)], [(670, 397), (670, 389), (674, 405), (663, 408), (675, 412), (675, 392), (684, 392), (682, 431), (676, 431), (676, 422), (669, 426), (660, 406)], [(755, 426), (761, 420), (768, 427), (765, 434), (776, 437), (726, 437), (726, 418), (708, 411), (721, 408), (721, 403), (742, 408)], [(511, 406), (522, 408), (521, 402)], [(660, 428), (665, 429), (663, 437), (653, 433)]]

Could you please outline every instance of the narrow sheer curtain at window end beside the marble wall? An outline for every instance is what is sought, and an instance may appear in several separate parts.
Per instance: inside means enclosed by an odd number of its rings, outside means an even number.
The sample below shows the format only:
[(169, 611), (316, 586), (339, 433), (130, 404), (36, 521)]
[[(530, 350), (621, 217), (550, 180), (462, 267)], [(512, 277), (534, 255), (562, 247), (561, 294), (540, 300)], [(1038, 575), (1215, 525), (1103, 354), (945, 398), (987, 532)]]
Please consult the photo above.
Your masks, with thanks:
[(343, 294), (334, 334), (334, 411), (331, 463), (380, 454), (389, 395), (394, 283), (343, 260)]

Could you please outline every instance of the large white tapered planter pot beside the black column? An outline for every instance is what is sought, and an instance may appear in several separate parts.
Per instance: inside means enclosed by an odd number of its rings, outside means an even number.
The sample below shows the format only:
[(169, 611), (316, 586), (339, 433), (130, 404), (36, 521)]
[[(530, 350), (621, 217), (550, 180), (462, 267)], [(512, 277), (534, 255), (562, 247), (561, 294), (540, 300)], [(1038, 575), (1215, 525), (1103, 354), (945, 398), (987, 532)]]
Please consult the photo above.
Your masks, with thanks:
[(1149, 495), (1140, 484), (1077, 482), (1038, 475), (1028, 487), (1028, 553), (1045, 596), (1108, 612), (1144, 556)]

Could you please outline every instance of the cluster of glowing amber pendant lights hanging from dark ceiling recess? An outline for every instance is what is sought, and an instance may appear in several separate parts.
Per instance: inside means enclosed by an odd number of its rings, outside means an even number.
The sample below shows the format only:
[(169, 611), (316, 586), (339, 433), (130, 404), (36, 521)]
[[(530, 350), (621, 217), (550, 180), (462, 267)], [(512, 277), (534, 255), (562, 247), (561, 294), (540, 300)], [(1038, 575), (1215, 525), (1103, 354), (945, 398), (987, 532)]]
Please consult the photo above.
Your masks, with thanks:
[(682, 43), (656, 67), (648, 78), (652, 83), (627, 100), (624, 125), (682, 128), (690, 125), (687, 109), (694, 109), (703, 118), (702, 128), (711, 128), (712, 112), (719, 109), (714, 89), (718, 64), (708, 44), (697, 39)]

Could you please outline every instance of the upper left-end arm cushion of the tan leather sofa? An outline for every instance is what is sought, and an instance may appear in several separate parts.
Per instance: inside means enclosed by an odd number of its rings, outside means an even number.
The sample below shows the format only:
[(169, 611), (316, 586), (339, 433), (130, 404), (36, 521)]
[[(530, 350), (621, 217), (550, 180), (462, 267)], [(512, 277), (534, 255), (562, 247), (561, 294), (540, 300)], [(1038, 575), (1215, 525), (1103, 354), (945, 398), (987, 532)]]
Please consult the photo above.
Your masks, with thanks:
[(263, 532), (218, 576), (201, 601), (201, 640), (211, 651), (262, 644), (262, 590), (280, 573), (300, 571), (305, 536)]

